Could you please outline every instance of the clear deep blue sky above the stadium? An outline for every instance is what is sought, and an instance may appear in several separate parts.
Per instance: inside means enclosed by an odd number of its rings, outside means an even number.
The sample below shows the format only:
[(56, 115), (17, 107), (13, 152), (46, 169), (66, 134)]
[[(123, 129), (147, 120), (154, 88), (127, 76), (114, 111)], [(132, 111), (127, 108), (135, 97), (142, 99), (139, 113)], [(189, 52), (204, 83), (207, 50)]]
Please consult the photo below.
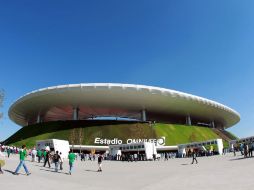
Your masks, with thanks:
[(19, 126), (11, 103), (59, 84), (119, 82), (175, 89), (241, 114), (254, 135), (254, 1), (2, 1), (0, 140)]

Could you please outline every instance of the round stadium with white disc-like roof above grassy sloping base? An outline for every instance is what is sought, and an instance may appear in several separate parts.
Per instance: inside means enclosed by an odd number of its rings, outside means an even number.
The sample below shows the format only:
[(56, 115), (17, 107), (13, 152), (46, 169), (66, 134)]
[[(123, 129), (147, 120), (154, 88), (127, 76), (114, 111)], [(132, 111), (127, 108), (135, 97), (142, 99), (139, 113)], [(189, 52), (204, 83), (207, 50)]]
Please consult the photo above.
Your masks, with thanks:
[[(226, 131), (240, 115), (199, 96), (145, 85), (83, 83), (32, 91), (14, 102), (9, 117), (21, 129), (6, 144), (34, 145), (60, 138), (96, 145), (120, 139), (165, 138), (165, 145), (236, 137)], [(104, 141), (103, 141), (104, 140)], [(103, 144), (103, 143), (102, 143)], [(101, 145), (101, 144), (99, 144)]]

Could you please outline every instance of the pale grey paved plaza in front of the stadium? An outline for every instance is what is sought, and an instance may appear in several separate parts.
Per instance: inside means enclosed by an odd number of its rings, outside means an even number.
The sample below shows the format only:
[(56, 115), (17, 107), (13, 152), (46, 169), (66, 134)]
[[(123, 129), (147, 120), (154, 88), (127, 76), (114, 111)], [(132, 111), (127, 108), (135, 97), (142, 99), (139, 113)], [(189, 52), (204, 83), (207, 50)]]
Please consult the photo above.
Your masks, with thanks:
[(174, 189), (174, 190), (247, 190), (254, 188), (254, 158), (243, 159), (232, 154), (198, 158), (191, 165), (191, 158), (169, 161), (120, 162), (104, 161), (103, 172), (97, 172), (96, 161), (76, 161), (73, 174), (68, 173), (68, 162), (59, 173), (42, 167), (42, 163), (27, 161), (32, 173), (26, 176), (11, 172), (18, 165), (18, 156), (6, 158), (0, 175), (1, 189)]

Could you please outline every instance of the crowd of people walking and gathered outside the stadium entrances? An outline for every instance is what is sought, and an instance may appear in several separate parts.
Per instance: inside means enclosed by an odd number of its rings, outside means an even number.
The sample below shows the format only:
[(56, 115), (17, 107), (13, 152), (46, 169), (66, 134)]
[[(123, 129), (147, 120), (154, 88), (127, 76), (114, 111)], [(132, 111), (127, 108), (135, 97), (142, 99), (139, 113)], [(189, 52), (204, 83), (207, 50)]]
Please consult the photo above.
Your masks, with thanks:
[[(253, 157), (254, 151), (254, 142), (251, 143), (238, 143), (234, 144), (230, 152), (234, 153), (236, 156), (236, 152), (241, 152), (244, 158)], [(226, 152), (223, 150), (223, 152)], [(4, 154), (5, 153), (5, 154)], [(63, 170), (64, 157), (59, 151), (51, 151), (49, 147), (46, 147), (45, 150), (36, 150), (27, 149), (25, 145), (22, 147), (15, 146), (4, 146), (0, 144), (0, 174), (3, 173), (2, 167), (5, 165), (4, 157), (11, 157), (11, 155), (19, 154), (19, 164), (13, 172), (14, 175), (19, 174), (19, 170), (21, 167), (24, 168), (26, 175), (30, 175), (30, 171), (26, 165), (27, 157), (31, 157), (31, 162), (41, 163), (43, 167), (48, 166), (51, 168), (51, 165), (54, 164), (54, 171), (58, 172), (59, 170)], [(182, 153), (178, 152), (163, 152), (160, 154), (154, 154), (152, 160), (169, 160), (174, 158), (192, 158), (192, 163), (198, 163), (197, 157), (201, 156), (213, 156), (216, 155), (217, 152), (210, 148), (209, 150), (204, 151), (203, 149), (187, 149)], [(128, 162), (136, 162), (136, 161), (147, 161), (146, 154), (144, 152), (122, 152), (122, 154), (110, 155), (104, 153), (102, 154), (92, 154), (92, 153), (84, 153), (81, 152), (79, 154), (69, 152), (68, 154), (68, 163), (69, 163), (69, 172), (71, 175), (73, 172), (74, 162), (79, 159), (81, 161), (98, 161), (98, 172), (102, 171), (102, 160), (116, 160), (116, 161), (128, 161)]]

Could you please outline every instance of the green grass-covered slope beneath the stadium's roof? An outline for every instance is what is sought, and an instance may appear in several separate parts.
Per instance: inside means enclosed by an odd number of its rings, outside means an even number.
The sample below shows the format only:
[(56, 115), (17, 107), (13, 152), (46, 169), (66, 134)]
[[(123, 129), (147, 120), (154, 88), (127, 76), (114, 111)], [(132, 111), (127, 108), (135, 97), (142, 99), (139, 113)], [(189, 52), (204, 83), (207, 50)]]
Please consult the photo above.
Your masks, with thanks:
[[(166, 137), (166, 145), (205, 141), (221, 138), (212, 129), (176, 124), (154, 124), (109, 121), (58, 121), (26, 126), (5, 140), (6, 144), (28, 147), (36, 140), (64, 139), (70, 144), (94, 145), (95, 138), (131, 139)], [(224, 139), (225, 140), (225, 139)], [(98, 144), (97, 144), (98, 145)]]

